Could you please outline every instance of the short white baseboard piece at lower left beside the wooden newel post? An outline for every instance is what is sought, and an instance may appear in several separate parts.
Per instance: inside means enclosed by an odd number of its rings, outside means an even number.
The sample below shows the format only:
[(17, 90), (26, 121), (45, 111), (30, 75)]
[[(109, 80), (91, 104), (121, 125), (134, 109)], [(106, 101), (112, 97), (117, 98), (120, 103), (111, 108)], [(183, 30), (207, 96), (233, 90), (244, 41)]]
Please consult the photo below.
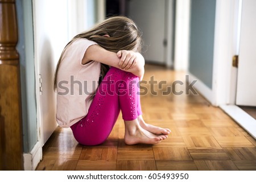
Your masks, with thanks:
[(38, 166), (40, 162), (40, 153), (42, 148), (40, 147), (40, 143), (36, 142), (34, 148), (30, 153), (24, 153), (24, 170), (25, 171), (34, 171), (36, 166)]

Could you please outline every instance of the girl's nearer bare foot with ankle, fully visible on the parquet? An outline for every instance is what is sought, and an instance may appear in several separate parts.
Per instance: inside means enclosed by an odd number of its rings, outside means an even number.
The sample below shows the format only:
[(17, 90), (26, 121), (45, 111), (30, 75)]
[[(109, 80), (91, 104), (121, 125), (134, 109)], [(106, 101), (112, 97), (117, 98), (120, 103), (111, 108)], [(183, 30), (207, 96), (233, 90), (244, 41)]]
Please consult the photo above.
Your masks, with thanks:
[(125, 121), (125, 143), (126, 144), (157, 144), (166, 139), (167, 135), (155, 135), (144, 130), (138, 123), (138, 119)]

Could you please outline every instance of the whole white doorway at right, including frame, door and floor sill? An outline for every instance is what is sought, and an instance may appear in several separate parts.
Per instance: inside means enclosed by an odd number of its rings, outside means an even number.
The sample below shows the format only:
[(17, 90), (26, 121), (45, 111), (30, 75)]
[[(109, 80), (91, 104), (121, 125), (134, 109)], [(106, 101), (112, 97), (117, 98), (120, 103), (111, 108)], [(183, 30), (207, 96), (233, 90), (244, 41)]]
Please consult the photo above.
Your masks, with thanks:
[[(256, 139), (256, 120), (251, 111), (247, 110), (249, 108), (255, 109), (254, 112), (256, 111), (256, 13), (254, 11), (256, 1), (217, 2), (218, 11), (222, 15), (217, 16), (218, 28), (220, 29), (217, 32), (221, 35), (218, 35), (217, 43), (222, 49), (216, 53), (216, 57), (221, 59), (215, 60), (218, 63), (215, 76), (221, 75), (216, 79), (218, 80), (215, 82), (217, 84), (214, 85), (215, 90), (217, 90), (216, 93), (218, 92), (216, 101), (225, 113)], [(223, 19), (223, 22), (220, 21)], [(230, 28), (229, 23), (232, 21), (233, 27)], [(229, 34), (233, 34), (231, 35), (233, 40), (227, 38)], [(234, 53), (238, 54), (239, 59), (237, 69), (232, 68), (231, 60), (228, 60)], [(227, 61), (226, 65), (225, 61)], [(231, 79), (229, 80), (229, 78)]]

